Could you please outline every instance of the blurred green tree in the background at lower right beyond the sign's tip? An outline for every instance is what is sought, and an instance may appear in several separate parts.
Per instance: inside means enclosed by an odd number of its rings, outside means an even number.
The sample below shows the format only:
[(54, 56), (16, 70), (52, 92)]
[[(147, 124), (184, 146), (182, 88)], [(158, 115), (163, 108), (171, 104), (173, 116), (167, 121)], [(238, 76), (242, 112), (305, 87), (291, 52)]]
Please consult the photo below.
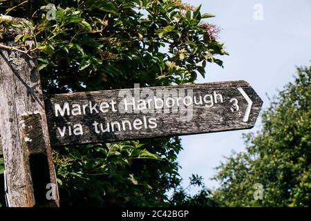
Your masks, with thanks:
[[(311, 205), (311, 67), (285, 86), (263, 113), (263, 128), (245, 135), (246, 152), (218, 166), (216, 198), (226, 206)], [(255, 200), (263, 185), (263, 200)]]

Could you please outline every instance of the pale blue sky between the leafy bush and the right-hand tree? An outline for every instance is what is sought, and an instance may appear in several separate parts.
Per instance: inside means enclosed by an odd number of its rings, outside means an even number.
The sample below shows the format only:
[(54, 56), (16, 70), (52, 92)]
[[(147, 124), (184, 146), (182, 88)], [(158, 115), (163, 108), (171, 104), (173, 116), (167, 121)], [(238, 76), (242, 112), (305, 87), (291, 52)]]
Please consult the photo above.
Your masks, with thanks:
[[(229, 56), (221, 57), (224, 68), (207, 66), (207, 76), (197, 83), (243, 79), (256, 90), (267, 108), (267, 95), (277, 95), (292, 81), (295, 66), (311, 65), (311, 1), (252, 0), (184, 0), (193, 6), (202, 4), (201, 11), (216, 17), (205, 19), (222, 28), (220, 41), (225, 42)], [(263, 7), (263, 20), (255, 20), (254, 6)], [(267, 95), (266, 95), (267, 93)], [(188, 185), (191, 173), (204, 177), (209, 188), (218, 183), (209, 180), (214, 167), (234, 151), (244, 151), (243, 133), (256, 132), (261, 119), (251, 130), (183, 136), (184, 151), (178, 161), (180, 174)], [(191, 192), (195, 193), (196, 189)]]

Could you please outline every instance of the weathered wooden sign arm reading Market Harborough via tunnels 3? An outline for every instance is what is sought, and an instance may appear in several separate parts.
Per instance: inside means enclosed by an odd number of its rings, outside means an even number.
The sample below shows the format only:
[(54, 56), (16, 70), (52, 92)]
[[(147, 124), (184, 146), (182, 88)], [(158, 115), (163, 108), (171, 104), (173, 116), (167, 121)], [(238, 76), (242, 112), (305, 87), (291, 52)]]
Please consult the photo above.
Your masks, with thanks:
[(53, 146), (252, 128), (263, 101), (246, 81), (47, 97)]

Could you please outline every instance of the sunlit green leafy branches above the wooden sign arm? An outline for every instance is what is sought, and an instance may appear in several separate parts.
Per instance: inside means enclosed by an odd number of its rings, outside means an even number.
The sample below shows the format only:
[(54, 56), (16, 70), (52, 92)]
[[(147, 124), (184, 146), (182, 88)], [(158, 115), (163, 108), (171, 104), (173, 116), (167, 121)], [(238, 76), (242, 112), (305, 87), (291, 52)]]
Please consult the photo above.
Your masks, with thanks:
[[(39, 70), (51, 76), (54, 70), (62, 69), (59, 73), (64, 77), (57, 79), (62, 90), (83, 90), (79, 85), (87, 90), (115, 84), (120, 88), (126, 84), (121, 83), (124, 77), (142, 77), (145, 82), (152, 79), (160, 85), (186, 84), (198, 73), (204, 75), (202, 61), (222, 66), (214, 56), (228, 55), (223, 44), (200, 25), (201, 19), (214, 17), (201, 14), (201, 6), (192, 10), (189, 5), (177, 6), (171, 1), (89, 0), (76, 7), (70, 0), (55, 7), (55, 19), (48, 20), (50, 7), (46, 3), (42, 6), (42, 2), (36, 4), (42, 16), (35, 20), (34, 35), (17, 36), (16, 40), (37, 41)], [(187, 8), (187, 12), (180, 8)], [(168, 70), (166, 61), (175, 62), (179, 68)], [(62, 68), (57, 68), (59, 62)], [(65, 80), (78, 75), (83, 84)]]

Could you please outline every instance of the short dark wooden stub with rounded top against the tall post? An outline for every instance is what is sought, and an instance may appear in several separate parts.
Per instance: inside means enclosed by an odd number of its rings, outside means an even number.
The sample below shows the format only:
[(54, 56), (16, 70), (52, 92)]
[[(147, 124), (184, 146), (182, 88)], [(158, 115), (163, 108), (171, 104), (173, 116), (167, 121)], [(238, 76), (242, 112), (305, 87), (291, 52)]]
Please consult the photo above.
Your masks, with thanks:
[(57, 206), (57, 202), (53, 200), (58, 198), (57, 188), (54, 189), (53, 198), (46, 198), (46, 185), (50, 183), (50, 174), (41, 115), (27, 113), (22, 116), (21, 146), (28, 206)]

